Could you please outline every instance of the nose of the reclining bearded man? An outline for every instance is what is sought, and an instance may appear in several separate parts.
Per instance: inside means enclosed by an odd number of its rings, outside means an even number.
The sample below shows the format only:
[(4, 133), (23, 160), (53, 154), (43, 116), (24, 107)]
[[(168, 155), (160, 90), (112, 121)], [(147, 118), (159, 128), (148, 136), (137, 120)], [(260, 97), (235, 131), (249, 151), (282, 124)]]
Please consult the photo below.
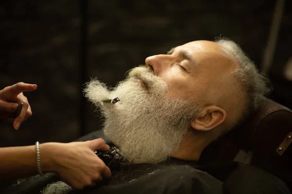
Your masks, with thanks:
[(156, 75), (159, 75), (161, 72), (166, 70), (168, 67), (170, 67), (171, 64), (173, 64), (173, 59), (171, 55), (153, 55), (150, 57), (147, 57), (145, 60), (145, 64), (148, 67), (152, 67), (153, 71)]

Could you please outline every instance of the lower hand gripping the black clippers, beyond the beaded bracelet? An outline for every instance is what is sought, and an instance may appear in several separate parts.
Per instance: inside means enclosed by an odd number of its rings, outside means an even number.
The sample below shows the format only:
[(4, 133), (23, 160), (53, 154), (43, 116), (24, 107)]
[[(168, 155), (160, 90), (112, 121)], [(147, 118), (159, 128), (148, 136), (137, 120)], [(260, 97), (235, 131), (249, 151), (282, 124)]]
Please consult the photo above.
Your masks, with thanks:
[[(50, 144), (51, 147), (46, 147)], [(68, 144), (41, 144), (41, 166), (44, 171), (59, 174), (71, 187), (83, 189), (85, 186), (94, 186), (96, 181), (103, 178), (110, 178), (110, 168), (94, 153), (94, 150), (106, 151), (109, 148), (103, 139)], [(47, 157), (44, 158), (44, 163), (43, 157)]]

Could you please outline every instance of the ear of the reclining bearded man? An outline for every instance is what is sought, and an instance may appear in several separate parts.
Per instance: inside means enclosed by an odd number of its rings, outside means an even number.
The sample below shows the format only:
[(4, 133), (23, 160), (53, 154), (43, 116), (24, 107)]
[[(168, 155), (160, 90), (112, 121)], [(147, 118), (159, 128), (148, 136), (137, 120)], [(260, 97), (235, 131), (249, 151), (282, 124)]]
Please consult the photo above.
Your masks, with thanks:
[(191, 127), (196, 130), (208, 131), (221, 125), (226, 120), (226, 112), (218, 106), (208, 106), (203, 109)]

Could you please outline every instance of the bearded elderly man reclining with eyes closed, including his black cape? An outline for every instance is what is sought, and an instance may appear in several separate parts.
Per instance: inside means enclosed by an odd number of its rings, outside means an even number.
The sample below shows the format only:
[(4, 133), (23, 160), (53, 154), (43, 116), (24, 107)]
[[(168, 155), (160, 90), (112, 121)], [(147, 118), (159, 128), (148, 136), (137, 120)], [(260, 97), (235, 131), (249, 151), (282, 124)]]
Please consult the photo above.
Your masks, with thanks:
[[(260, 105), (265, 82), (239, 46), (224, 39), (148, 57), (115, 88), (92, 80), (85, 96), (100, 109), (104, 134), (127, 162), (81, 193), (289, 194), (284, 182), (255, 167), (198, 163), (208, 145)], [(108, 103), (116, 97), (120, 101)], [(69, 191), (57, 182), (43, 193)]]

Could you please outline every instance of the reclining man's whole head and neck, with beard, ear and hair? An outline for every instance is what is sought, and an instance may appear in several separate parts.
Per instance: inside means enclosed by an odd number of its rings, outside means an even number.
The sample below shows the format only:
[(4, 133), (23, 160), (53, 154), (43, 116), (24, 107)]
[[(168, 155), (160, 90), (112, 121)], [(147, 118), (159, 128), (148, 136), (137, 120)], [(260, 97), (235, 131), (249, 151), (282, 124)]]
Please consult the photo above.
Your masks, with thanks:
[[(145, 62), (113, 90), (97, 80), (85, 89), (105, 117), (105, 135), (131, 163), (169, 156), (198, 161), (268, 91), (255, 65), (228, 40), (189, 42)], [(114, 97), (121, 100), (114, 106), (102, 102)]]

